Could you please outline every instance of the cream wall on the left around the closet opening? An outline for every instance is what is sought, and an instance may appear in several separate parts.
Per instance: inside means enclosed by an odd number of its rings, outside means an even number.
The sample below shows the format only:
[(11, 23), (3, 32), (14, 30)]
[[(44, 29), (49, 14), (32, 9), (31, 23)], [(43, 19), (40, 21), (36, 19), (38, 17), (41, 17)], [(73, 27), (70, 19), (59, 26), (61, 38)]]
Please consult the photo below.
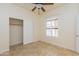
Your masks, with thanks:
[(36, 41), (34, 34), (34, 21), (37, 16), (27, 9), (17, 7), (13, 4), (0, 4), (0, 53), (9, 50), (9, 17), (22, 19), (23, 24), (23, 43)]

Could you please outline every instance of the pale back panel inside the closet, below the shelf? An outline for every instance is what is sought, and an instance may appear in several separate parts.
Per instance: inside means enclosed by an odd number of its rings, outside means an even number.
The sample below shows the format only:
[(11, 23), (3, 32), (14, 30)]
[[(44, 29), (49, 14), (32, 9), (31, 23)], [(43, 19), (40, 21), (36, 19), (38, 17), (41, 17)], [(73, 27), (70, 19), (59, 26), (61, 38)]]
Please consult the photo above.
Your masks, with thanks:
[(10, 25), (10, 46), (23, 42), (23, 28), (21, 25)]

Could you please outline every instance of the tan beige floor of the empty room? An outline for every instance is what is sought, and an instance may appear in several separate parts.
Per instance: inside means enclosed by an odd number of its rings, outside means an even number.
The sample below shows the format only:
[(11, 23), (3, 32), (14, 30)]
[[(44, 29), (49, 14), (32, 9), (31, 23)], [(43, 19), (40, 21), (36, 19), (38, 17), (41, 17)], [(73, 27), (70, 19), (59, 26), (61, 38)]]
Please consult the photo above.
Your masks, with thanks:
[(33, 42), (26, 45), (16, 45), (1, 56), (78, 56), (79, 53), (45, 42)]

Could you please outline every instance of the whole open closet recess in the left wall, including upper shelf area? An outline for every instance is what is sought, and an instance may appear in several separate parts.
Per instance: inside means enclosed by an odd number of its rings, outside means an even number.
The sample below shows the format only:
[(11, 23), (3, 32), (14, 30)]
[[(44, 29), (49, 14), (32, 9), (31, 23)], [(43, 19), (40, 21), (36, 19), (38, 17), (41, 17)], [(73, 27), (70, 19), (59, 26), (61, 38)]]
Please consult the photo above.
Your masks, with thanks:
[(10, 47), (23, 45), (23, 20), (9, 18)]

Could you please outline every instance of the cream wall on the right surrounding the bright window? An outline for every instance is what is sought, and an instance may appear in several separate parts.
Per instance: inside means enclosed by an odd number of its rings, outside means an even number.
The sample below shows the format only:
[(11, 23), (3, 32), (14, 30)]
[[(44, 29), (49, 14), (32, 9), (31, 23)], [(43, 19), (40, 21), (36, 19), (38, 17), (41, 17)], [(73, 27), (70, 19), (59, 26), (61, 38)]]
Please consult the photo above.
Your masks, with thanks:
[[(75, 20), (78, 12), (78, 4), (62, 4), (52, 8), (43, 14), (40, 21), (41, 40), (55, 44), (67, 49), (75, 50)], [(45, 20), (47, 18), (58, 18), (59, 36), (55, 39), (45, 35)]]

